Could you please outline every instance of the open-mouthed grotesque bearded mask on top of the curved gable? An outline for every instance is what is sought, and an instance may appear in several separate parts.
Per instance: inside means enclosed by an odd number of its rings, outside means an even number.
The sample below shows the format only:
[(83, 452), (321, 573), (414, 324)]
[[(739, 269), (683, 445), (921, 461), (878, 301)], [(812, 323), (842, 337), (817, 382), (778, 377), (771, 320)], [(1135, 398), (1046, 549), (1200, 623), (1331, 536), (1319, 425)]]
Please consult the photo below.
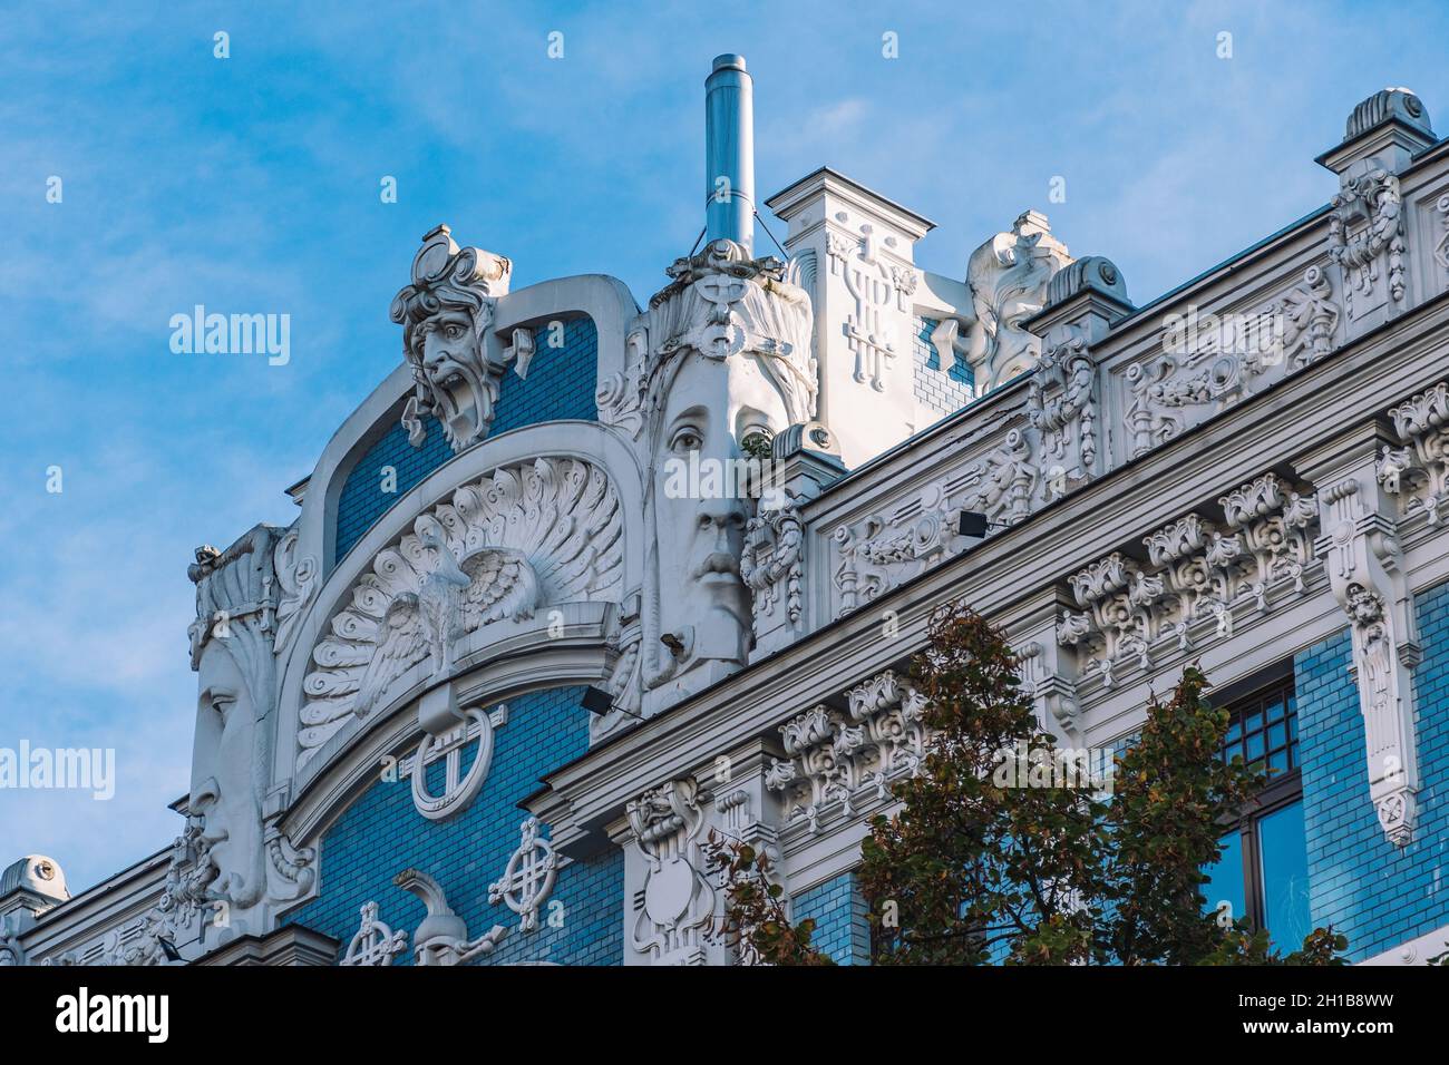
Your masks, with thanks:
[(414, 446), (426, 436), (423, 414), (438, 417), (454, 451), (488, 435), (501, 367), (488, 361), (485, 338), (494, 298), (509, 291), (510, 271), (498, 255), (459, 249), (448, 226), (423, 238), (413, 283), (391, 309), (403, 326), (403, 352), (417, 385), (403, 414)]

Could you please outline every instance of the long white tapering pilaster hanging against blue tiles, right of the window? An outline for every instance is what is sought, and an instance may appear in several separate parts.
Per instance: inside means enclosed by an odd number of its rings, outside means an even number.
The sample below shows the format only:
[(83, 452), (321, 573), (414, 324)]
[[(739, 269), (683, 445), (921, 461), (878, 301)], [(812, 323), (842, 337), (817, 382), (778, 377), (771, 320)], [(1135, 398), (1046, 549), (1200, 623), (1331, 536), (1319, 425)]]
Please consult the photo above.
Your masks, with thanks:
[(1349, 619), (1369, 798), (1384, 835), (1404, 846), (1413, 839), (1419, 790), (1413, 668), (1420, 646), (1397, 507), (1375, 475), (1385, 435), (1378, 423), (1366, 426), (1298, 468), (1321, 485), (1317, 497), (1323, 532), (1314, 548)]

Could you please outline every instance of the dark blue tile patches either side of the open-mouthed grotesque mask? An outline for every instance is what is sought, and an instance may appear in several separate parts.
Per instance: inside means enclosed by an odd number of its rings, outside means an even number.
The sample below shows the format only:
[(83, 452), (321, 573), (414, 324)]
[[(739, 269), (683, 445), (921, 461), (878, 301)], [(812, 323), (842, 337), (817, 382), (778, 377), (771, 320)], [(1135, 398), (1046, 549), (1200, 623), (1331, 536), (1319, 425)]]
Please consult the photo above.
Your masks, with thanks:
[[(535, 329), (536, 352), (526, 380), (511, 367), (504, 372), (490, 436), (540, 422), (593, 422), (598, 417), (594, 401), (598, 330), (590, 317), (559, 319), (559, 330), (549, 329), (546, 322)], [(393, 425), (348, 474), (338, 496), (335, 561), (342, 559), (413, 485), (452, 458), (438, 420), (427, 417), (425, 426), (423, 446), (414, 448), (407, 442), (407, 430)], [(383, 491), (383, 467), (397, 471), (396, 493)]]

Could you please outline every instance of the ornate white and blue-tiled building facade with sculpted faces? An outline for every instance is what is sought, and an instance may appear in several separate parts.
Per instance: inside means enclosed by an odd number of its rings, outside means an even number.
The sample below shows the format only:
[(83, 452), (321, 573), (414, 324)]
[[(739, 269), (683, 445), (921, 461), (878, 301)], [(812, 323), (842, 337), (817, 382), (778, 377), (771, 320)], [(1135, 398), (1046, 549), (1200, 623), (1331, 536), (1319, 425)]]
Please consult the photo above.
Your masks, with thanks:
[[(1135, 306), (1024, 212), (964, 277), (817, 170), (755, 245), (751, 80), (707, 80), (707, 223), (640, 307), (423, 238), (403, 359), (190, 568), (175, 842), (0, 884), (0, 964), (697, 965), (701, 845), (768, 848), (840, 962), (965, 598), (1072, 748), (1200, 662), (1277, 772), (1210, 894), (1355, 961), (1449, 940), (1449, 143), (1384, 90), (1332, 203)], [(753, 465), (751, 465), (753, 464)], [(761, 472), (762, 471), (762, 472)]]

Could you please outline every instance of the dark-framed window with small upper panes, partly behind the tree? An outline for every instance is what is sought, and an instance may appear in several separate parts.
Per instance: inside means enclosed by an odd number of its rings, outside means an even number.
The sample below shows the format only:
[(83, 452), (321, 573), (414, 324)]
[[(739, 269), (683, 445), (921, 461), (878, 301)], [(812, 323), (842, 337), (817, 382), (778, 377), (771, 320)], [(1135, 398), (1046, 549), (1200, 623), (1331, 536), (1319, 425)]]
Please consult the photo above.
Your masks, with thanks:
[[(1223, 904), (1235, 920), (1268, 929), (1274, 945), (1297, 951), (1313, 930), (1308, 913), (1308, 848), (1303, 826), (1298, 772), (1298, 707), (1293, 672), (1242, 696), (1229, 691), (1232, 713), (1222, 756), (1268, 772), (1259, 797), (1223, 836), (1223, 855), (1203, 885), (1210, 910)], [(1259, 678), (1262, 681), (1265, 678)]]

